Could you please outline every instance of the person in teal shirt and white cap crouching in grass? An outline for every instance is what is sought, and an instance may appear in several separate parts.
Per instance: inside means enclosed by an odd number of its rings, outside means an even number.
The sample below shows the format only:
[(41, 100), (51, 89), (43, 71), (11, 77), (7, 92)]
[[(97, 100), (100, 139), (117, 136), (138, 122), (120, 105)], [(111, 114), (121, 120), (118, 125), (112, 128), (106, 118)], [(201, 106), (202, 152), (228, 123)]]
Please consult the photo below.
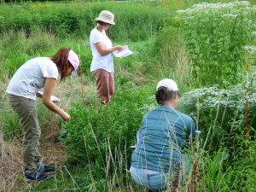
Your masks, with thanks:
[[(156, 88), (156, 102), (160, 106), (144, 115), (131, 155), (131, 177), (148, 191), (177, 186), (182, 167), (189, 164), (182, 148), (195, 137), (193, 119), (175, 109), (177, 84), (172, 79), (163, 79)], [(168, 184), (168, 179), (174, 182)]]

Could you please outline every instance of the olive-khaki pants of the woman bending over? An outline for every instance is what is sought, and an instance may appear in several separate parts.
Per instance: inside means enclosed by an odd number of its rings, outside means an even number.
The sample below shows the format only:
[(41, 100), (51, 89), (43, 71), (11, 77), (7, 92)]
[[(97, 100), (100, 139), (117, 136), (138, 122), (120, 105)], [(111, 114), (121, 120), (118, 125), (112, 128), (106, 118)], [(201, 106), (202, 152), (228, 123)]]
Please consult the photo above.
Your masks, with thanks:
[(36, 172), (38, 164), (41, 163), (39, 150), (41, 129), (38, 124), (36, 101), (22, 96), (9, 95), (9, 103), (18, 114), (21, 128), (24, 131), (22, 147), (25, 172)]

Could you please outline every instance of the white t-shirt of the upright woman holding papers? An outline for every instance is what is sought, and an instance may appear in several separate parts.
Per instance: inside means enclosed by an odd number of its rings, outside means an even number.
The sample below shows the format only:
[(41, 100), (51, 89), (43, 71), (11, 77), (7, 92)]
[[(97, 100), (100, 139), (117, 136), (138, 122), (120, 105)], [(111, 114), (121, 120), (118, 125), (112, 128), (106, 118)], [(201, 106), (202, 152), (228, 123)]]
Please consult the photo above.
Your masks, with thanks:
[(104, 69), (109, 73), (113, 73), (113, 55), (101, 55), (95, 44), (101, 42), (105, 49), (112, 48), (112, 42), (106, 35), (105, 31), (99, 32), (96, 28), (90, 32), (90, 49), (92, 51), (93, 59), (90, 64), (90, 71), (94, 72), (97, 69)]

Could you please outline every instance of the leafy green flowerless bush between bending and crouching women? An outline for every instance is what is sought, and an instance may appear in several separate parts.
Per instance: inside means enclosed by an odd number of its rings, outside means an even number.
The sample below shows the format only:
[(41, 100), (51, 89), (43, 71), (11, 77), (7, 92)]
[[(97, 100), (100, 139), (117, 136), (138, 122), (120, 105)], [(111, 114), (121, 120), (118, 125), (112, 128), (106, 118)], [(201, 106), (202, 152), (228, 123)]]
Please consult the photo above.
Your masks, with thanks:
[(118, 154), (130, 154), (129, 147), (135, 143), (151, 92), (148, 87), (137, 88), (127, 83), (116, 90), (107, 106), (90, 104), (85, 108), (74, 103), (69, 110), (72, 119), (63, 125), (67, 130), (65, 143), (70, 162), (105, 165), (110, 152), (113, 160)]

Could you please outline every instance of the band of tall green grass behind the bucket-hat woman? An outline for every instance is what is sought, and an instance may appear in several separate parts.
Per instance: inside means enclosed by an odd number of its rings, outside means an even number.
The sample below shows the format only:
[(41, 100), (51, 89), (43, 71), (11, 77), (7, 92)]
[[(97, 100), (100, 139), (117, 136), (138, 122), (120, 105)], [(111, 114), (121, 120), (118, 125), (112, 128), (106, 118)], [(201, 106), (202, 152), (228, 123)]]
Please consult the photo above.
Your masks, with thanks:
[(150, 38), (167, 15), (160, 3), (25, 3), (1, 7), (0, 32), (23, 30), (30, 34), (39, 26), (62, 38), (86, 38), (103, 9), (115, 15), (110, 38), (125, 42)]

